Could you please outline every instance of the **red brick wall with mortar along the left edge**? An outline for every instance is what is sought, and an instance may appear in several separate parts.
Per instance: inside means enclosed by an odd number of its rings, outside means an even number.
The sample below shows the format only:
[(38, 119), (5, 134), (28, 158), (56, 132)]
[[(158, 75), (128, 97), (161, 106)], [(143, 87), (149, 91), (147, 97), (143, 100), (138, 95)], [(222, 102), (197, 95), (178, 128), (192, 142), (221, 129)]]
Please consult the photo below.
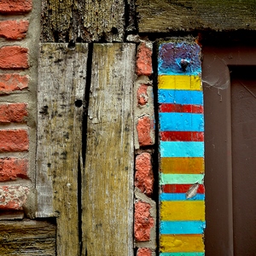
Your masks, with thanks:
[(0, 209), (20, 210), (29, 194), (32, 0), (0, 1)]

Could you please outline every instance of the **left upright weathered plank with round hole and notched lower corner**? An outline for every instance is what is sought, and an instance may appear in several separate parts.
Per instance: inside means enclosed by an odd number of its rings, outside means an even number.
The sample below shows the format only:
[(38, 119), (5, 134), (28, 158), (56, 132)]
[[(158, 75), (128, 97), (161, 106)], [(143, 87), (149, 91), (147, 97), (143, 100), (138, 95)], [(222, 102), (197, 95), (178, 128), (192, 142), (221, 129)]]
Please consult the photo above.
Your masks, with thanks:
[(79, 255), (78, 173), (87, 44), (41, 44), (38, 61), (37, 217), (57, 217), (58, 255)]

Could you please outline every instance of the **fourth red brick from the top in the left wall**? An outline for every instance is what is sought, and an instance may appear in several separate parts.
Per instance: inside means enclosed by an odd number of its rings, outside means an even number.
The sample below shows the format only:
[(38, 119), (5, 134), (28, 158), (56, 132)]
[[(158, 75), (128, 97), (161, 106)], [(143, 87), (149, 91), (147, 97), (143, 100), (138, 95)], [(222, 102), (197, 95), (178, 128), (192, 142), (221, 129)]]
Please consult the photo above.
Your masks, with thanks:
[(28, 76), (18, 73), (0, 74), (0, 95), (9, 94), (15, 90), (24, 90), (28, 87)]

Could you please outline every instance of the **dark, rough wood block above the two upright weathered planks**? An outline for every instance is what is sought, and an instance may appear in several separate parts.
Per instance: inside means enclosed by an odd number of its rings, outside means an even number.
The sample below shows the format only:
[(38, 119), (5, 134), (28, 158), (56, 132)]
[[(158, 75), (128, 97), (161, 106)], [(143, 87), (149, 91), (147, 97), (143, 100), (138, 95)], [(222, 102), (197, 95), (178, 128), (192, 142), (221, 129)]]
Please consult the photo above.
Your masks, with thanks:
[(43, 0), (44, 42), (121, 42), (125, 31), (125, 1)]

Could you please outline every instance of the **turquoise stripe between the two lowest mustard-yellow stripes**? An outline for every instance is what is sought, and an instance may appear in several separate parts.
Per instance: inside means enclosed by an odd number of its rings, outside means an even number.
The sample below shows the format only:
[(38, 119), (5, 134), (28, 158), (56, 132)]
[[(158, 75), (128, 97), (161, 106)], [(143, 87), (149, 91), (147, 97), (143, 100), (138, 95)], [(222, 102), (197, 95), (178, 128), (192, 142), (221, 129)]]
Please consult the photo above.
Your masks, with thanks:
[(203, 234), (205, 228), (206, 222), (200, 220), (160, 222), (160, 234), (162, 235)]

